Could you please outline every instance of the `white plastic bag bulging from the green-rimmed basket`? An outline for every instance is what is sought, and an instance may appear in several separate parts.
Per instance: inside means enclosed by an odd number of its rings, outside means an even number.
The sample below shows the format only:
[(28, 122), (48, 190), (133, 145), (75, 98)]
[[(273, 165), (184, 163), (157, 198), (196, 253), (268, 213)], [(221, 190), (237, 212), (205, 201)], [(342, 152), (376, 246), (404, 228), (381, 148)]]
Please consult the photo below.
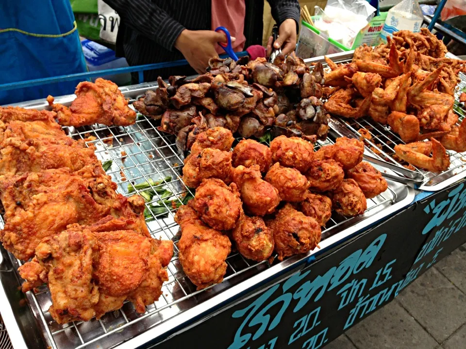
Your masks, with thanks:
[(329, 0), (325, 10), (315, 9), (316, 28), (346, 47), (352, 46), (376, 11), (366, 0)]

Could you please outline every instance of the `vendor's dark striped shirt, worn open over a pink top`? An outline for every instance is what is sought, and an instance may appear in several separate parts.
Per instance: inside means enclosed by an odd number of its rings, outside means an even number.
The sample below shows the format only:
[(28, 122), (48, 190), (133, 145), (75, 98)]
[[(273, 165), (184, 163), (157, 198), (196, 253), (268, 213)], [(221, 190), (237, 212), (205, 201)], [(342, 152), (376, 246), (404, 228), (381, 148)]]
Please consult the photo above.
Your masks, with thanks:
[[(104, 0), (121, 18), (116, 38), (116, 54), (126, 57), (130, 65), (161, 63), (183, 59), (174, 47), (184, 29), (211, 30), (212, 0)], [(215, 0), (213, 0), (215, 1)], [(298, 0), (268, 0), (277, 23), (287, 18), (300, 20)], [(263, 0), (245, 0), (244, 34), (246, 45), (262, 43)], [(298, 32), (298, 30), (297, 30)], [(196, 74), (190, 66), (151, 70), (145, 81), (157, 76)]]

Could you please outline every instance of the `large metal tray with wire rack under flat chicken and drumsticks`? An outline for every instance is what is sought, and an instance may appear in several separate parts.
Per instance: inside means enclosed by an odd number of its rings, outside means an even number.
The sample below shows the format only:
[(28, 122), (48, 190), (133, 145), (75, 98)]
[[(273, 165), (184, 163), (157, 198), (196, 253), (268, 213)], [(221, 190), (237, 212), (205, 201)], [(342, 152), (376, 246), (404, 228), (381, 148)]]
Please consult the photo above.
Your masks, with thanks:
[[(135, 98), (155, 87), (155, 84), (146, 83), (123, 87), (121, 90), (127, 97)], [(69, 105), (73, 99), (74, 95), (58, 97), (56, 103)], [(38, 100), (23, 103), (20, 106), (43, 109), (47, 106), (47, 102)], [(172, 179), (165, 182), (166, 187), (174, 193), (175, 200), (182, 200), (187, 190), (180, 178), (183, 160), (177, 153), (175, 136), (160, 132), (156, 126), (153, 120), (139, 115), (135, 125), (130, 127), (95, 125), (80, 128), (65, 127), (65, 130), (75, 139), (87, 136), (97, 138), (93, 142), (97, 147), (96, 155), (102, 161), (113, 160), (107, 173), (117, 183), (119, 192), (127, 195), (130, 182), (140, 183), (149, 178), (156, 180), (171, 176)], [(335, 136), (338, 134), (333, 133), (328, 141), (316, 147), (330, 143)], [(199, 321), (200, 317), (217, 311), (221, 305), (234, 302), (245, 292), (257, 290), (261, 283), (278, 277), (284, 271), (298, 267), (309, 260), (311, 255), (329, 250), (356, 232), (383, 220), (413, 201), (413, 189), (397, 182), (388, 181), (388, 183), (387, 191), (374, 199), (367, 200), (368, 208), (364, 215), (346, 219), (334, 214), (327, 224), (327, 229), (322, 232), (320, 250), (316, 248), (307, 254), (296, 255), (280, 263), (275, 261), (271, 266), (266, 262), (255, 263), (243, 258), (240, 254), (232, 253), (227, 259), (228, 270), (224, 282), (201, 291), (196, 291), (178, 261), (176, 242), (180, 234), (179, 227), (173, 220), (176, 210), (167, 207), (168, 215), (151, 217), (153, 220), (148, 221), (148, 227), (153, 237), (175, 241), (175, 253), (167, 268), (169, 281), (163, 286), (163, 295), (157, 302), (146, 307), (145, 314), (137, 314), (132, 303), (126, 302), (120, 310), (107, 313), (100, 320), (92, 319), (87, 322), (59, 325), (48, 312), (51, 301), (47, 287), (43, 286), (35, 293), (28, 292), (27, 302), (43, 334), (43, 339), (50, 348), (107, 349), (143, 346), (148, 341), (163, 339), (174, 329), (182, 331), (186, 326)], [(158, 200), (158, 197), (154, 198), (154, 201)], [(13, 270), (16, 270), (20, 261), (4, 250), (2, 252), (8, 255)], [(0, 270), (0, 276), (2, 279), (9, 277), (14, 280), (16, 277), (20, 280), (17, 273), (11, 270), (8, 275)], [(11, 280), (10, 282), (14, 282)], [(8, 301), (1, 301), (7, 298)], [(12, 301), (11, 294), (6, 294), (5, 289), (1, 288), (1, 314), (7, 323), (7, 328), (19, 333), (17, 321), (14, 318), (17, 315), (13, 315), (12, 311), (15, 304), (11, 303)]]

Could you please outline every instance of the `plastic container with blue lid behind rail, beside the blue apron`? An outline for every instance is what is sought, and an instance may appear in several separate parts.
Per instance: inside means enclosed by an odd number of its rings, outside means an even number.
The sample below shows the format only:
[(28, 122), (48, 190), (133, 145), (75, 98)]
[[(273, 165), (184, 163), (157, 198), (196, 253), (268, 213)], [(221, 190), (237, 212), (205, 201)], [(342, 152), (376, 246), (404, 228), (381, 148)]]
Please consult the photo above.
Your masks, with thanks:
[[(128, 62), (124, 57), (117, 58), (115, 51), (106, 48), (94, 41), (83, 40), (81, 42), (83, 46), (84, 58), (86, 59), (87, 69), (89, 71), (98, 71), (105, 69), (123, 68), (128, 66)], [(105, 75), (101, 78), (111, 80), (118, 86), (124, 86), (131, 84), (131, 74), (117, 74), (117, 75)], [(95, 81), (97, 78), (92, 78)]]

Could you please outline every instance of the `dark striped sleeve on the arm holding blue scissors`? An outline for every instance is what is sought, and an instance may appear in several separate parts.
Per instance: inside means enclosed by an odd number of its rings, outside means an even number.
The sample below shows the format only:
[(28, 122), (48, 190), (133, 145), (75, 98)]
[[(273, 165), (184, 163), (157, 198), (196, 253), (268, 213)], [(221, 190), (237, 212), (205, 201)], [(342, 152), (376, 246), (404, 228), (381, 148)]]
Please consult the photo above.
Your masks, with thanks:
[(125, 25), (157, 44), (173, 51), (178, 36), (185, 29), (159, 6), (147, 0), (104, 0)]

